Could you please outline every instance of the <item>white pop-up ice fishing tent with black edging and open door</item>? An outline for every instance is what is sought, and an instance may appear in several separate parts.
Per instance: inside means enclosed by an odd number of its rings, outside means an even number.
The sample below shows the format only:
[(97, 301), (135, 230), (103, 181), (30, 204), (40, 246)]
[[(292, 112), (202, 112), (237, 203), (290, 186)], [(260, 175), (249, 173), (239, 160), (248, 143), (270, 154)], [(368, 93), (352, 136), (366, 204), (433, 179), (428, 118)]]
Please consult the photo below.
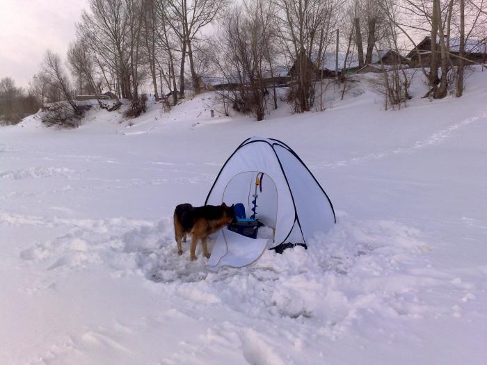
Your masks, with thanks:
[(305, 246), (313, 234), (335, 224), (333, 205), (317, 179), (289, 146), (273, 138), (253, 137), (241, 143), (221, 168), (205, 204), (242, 203), (250, 216), (257, 175), (263, 176), (257, 219), (273, 229), (273, 238), (253, 240), (223, 229), (207, 268), (244, 266), (265, 248), (287, 243)]

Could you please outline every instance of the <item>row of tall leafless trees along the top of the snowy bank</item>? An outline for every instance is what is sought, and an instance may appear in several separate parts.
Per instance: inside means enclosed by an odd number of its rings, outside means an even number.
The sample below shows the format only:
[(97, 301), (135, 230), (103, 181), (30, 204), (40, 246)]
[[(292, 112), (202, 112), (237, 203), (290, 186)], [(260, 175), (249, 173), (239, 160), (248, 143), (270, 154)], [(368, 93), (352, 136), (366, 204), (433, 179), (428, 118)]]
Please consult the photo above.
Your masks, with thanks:
[[(335, 49), (345, 64), (367, 65), (381, 49), (404, 55), (427, 34), (431, 56), (420, 70), (428, 96), (445, 97), (453, 85), (460, 97), (465, 44), (487, 35), (484, 1), (88, 0), (67, 62), (47, 51), (29, 90), (40, 104), (68, 100), (74, 115), (82, 112), (69, 102), (75, 93), (95, 95), (104, 106), (102, 92), (110, 92), (137, 112), (143, 87), (175, 105), (188, 90), (201, 92), (205, 80), (225, 79), (234, 87), (221, 92), (223, 101), (262, 120), (278, 106), (283, 70), (292, 75), (285, 98), (296, 113), (310, 111), (323, 92), (317, 70)], [(459, 40), (456, 53), (452, 39)], [(408, 99), (404, 67), (383, 77), (392, 103)]]

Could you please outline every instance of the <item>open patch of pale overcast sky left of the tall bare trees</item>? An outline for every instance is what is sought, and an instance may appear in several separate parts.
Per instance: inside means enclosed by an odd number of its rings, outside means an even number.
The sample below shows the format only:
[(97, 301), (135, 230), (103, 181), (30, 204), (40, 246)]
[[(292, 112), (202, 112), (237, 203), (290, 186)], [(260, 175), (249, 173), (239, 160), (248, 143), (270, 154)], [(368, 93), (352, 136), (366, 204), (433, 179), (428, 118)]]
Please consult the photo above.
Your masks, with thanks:
[(26, 87), (46, 49), (63, 58), (87, 0), (0, 0), (0, 78)]

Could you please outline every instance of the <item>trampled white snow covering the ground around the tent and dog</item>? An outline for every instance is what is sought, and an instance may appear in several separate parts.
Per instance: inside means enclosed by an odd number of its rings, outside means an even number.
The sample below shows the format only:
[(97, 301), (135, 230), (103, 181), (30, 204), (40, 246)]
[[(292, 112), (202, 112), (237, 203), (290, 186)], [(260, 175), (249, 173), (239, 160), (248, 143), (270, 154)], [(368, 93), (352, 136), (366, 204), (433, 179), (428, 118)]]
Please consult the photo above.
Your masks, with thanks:
[[(202, 95), (130, 127), (1, 128), (0, 364), (486, 364), (487, 72), (423, 94), (381, 111), (362, 79), (264, 122), (211, 119)], [(253, 135), (294, 148), (338, 223), (208, 273), (177, 255), (173, 209)]]

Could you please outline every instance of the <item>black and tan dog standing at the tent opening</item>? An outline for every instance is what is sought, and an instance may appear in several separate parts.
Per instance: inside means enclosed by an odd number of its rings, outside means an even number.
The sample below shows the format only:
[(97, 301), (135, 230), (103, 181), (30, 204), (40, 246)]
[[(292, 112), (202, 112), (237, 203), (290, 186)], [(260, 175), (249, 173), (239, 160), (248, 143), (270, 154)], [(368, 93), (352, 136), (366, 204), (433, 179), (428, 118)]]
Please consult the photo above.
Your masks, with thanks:
[(191, 235), (190, 259), (195, 261), (196, 246), (201, 240), (203, 254), (209, 259), (208, 236), (225, 227), (235, 220), (234, 206), (205, 205), (194, 207), (191, 204), (179, 204), (174, 211), (174, 234), (177, 243), (177, 253), (182, 255), (181, 242), (186, 242), (186, 236)]

